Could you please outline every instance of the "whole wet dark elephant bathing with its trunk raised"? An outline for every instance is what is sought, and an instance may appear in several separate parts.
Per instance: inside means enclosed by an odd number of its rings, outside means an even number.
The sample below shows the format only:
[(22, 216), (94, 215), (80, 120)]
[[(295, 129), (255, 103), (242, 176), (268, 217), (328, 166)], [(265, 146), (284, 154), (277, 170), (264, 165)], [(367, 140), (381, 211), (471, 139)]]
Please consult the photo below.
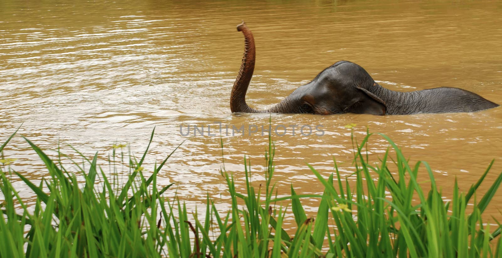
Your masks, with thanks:
[(399, 92), (380, 86), (361, 66), (338, 61), (267, 110), (249, 107), (245, 95), (255, 69), (255, 40), (244, 22), (244, 56), (230, 93), (230, 110), (245, 113), (417, 114), (473, 112), (498, 106), (473, 92), (439, 87)]

